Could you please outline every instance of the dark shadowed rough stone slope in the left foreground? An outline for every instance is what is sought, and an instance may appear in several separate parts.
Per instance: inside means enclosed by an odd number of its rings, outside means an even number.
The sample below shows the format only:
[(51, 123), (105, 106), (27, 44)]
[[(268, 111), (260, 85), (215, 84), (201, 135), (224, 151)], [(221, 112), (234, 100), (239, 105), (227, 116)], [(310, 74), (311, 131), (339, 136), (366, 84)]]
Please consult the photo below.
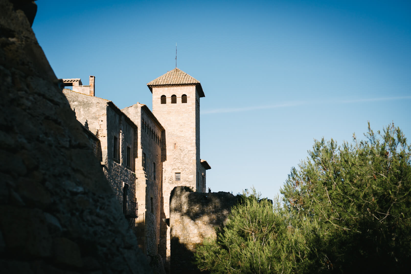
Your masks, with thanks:
[(1, 272), (151, 273), (30, 28), (32, 5), (21, 9), (27, 2), (0, 0)]

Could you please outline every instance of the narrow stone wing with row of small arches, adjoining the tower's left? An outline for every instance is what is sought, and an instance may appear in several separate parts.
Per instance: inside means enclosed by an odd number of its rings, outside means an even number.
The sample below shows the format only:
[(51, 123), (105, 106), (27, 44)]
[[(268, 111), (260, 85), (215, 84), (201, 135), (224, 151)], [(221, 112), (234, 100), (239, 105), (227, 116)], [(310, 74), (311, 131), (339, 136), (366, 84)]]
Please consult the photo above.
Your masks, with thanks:
[[(136, 232), (139, 243), (148, 256), (155, 256), (160, 241), (160, 208), (162, 207), (161, 136), (164, 128), (144, 104), (134, 104), (122, 111), (139, 125), (136, 147), (136, 198), (139, 203), (139, 219)], [(145, 155), (145, 157), (143, 157)], [(144, 159), (143, 159), (144, 158)], [(154, 168), (155, 166), (155, 168)], [(141, 219), (140, 219), (141, 218)], [(144, 221), (144, 223), (141, 223)]]

